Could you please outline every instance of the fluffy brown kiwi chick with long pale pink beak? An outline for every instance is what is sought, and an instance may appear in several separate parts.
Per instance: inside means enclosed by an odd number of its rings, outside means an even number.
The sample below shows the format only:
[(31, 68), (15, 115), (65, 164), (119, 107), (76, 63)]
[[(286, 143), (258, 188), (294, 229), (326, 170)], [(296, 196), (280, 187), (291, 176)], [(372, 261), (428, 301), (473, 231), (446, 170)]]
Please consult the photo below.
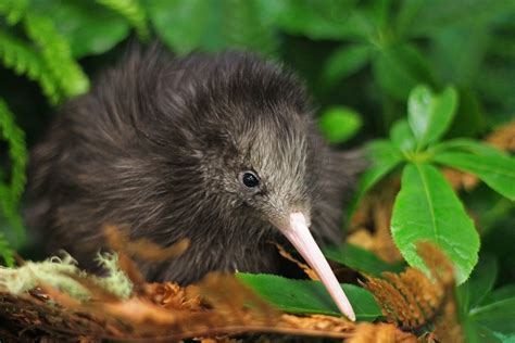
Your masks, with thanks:
[(102, 227), (190, 247), (140, 264), (149, 280), (211, 270), (279, 272), (290, 242), (354, 319), (318, 244), (339, 242), (359, 170), (317, 131), (310, 97), (282, 66), (238, 52), (174, 58), (135, 50), (64, 104), (32, 152), (28, 225), (49, 253), (92, 268)]

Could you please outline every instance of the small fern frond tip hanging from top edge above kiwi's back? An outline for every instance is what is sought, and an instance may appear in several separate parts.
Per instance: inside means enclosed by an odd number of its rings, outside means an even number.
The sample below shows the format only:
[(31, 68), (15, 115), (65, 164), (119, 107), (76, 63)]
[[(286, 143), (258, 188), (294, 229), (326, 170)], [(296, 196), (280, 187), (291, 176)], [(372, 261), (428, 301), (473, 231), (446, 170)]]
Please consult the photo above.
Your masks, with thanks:
[(98, 3), (124, 16), (136, 28), (139, 38), (149, 38), (147, 13), (139, 0), (97, 0)]

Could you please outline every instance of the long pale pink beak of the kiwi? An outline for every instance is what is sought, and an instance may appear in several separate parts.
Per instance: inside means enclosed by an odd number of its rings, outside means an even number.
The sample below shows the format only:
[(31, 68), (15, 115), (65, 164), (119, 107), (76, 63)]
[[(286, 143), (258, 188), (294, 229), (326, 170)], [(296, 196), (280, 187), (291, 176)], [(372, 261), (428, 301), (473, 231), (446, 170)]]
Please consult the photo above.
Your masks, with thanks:
[(291, 244), (293, 244), (302, 257), (304, 257), (310, 267), (315, 270), (341, 313), (352, 321), (355, 321), (356, 317), (352, 309), (352, 305), (336, 279), (327, 259), (324, 257), (321, 249), (313, 239), (313, 236), (307, 228), (304, 215), (300, 212), (292, 213), (290, 214), (289, 221), (289, 227), (282, 228), (281, 232)]

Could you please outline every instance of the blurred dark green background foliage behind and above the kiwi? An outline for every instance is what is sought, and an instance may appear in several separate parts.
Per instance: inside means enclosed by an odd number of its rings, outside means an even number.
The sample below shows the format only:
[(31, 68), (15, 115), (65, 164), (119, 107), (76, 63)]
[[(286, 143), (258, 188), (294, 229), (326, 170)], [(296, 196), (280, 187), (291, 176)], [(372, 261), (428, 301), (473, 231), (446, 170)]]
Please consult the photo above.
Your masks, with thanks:
[[(447, 138), (512, 122), (514, 37), (513, 0), (0, 0), (0, 251), (26, 240), (25, 147), (134, 41), (281, 61), (305, 79), (326, 137), (347, 148), (387, 136), (418, 84), (456, 88)], [(482, 214), (482, 251), (499, 257), (499, 282), (514, 281), (513, 203), (486, 187), (464, 198)]]

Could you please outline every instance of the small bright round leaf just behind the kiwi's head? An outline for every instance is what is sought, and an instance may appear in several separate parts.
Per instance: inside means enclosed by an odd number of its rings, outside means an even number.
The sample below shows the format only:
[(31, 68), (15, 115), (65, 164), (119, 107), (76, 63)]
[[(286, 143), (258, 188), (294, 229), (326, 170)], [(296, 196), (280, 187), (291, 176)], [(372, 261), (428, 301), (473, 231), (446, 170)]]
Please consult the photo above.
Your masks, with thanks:
[(363, 123), (357, 112), (338, 106), (324, 111), (318, 119), (318, 127), (324, 137), (331, 143), (342, 143), (357, 134)]

